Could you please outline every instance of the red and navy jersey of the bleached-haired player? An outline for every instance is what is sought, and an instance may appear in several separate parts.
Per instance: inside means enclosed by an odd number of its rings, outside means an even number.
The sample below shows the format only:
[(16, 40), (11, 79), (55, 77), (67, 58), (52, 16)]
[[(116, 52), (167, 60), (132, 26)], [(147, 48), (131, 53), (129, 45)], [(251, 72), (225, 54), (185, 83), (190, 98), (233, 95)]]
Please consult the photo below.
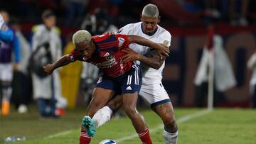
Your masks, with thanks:
[(127, 35), (96, 35), (92, 37), (92, 41), (96, 49), (90, 59), (85, 60), (80, 55), (80, 52), (74, 49), (69, 54), (70, 62), (74, 62), (75, 60), (90, 62), (102, 70), (107, 77), (118, 77), (131, 69), (132, 62), (122, 62), (121, 59), (122, 56), (126, 55), (121, 50), (128, 48), (129, 45)]

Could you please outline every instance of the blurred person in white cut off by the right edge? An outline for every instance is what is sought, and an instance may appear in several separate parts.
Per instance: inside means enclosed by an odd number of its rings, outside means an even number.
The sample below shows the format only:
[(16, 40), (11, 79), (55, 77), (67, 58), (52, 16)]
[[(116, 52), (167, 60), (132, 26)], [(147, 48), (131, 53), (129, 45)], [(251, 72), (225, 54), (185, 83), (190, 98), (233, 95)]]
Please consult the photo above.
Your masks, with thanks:
[(252, 108), (256, 108), (256, 51), (248, 60), (247, 67), (252, 70), (252, 77), (250, 79), (250, 105)]

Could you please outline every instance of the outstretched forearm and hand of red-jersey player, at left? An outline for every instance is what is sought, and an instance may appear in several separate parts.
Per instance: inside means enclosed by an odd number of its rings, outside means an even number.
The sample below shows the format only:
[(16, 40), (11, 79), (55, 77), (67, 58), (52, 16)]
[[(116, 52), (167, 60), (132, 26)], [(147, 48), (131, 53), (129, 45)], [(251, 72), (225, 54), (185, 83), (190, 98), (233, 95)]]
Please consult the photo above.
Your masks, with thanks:
[(53, 64), (48, 64), (45, 67), (43, 67), (44, 71), (48, 74), (52, 74), (55, 69), (58, 67), (63, 67), (64, 65), (68, 65), (70, 63), (70, 60), (68, 60), (68, 55), (63, 55), (63, 57), (60, 57), (60, 59), (57, 62), (54, 62)]

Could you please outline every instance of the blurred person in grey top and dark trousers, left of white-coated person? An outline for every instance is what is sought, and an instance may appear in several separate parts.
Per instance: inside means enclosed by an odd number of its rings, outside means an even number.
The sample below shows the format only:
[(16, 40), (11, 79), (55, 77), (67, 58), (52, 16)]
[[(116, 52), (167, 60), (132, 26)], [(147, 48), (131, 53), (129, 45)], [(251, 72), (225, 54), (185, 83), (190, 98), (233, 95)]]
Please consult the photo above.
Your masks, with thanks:
[(18, 108), (18, 113), (26, 113), (32, 91), (31, 77), (28, 74), (28, 59), (31, 55), (30, 45), (21, 33), (20, 21), (17, 18), (11, 18), (11, 27), (16, 31), (15, 34), (21, 46), (21, 61), (17, 70), (14, 71), (12, 99), (14, 99), (14, 103)]

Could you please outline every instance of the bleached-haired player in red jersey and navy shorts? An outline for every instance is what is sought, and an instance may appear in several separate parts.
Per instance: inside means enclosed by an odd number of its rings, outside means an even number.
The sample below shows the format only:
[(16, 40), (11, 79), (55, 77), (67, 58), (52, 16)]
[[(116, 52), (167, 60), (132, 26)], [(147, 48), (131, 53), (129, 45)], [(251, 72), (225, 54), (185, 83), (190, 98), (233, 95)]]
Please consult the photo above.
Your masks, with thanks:
[(92, 37), (85, 30), (77, 31), (73, 35), (73, 43), (75, 50), (69, 55), (64, 55), (57, 62), (46, 65), (44, 70), (51, 74), (56, 68), (68, 65), (75, 60), (90, 62), (102, 70), (103, 74), (97, 82), (92, 101), (82, 120), (80, 144), (90, 143), (90, 137), (95, 133), (92, 116), (117, 94), (122, 95), (124, 110), (142, 143), (151, 144), (149, 129), (136, 108), (139, 89), (142, 85), (142, 72), (135, 62), (122, 61), (121, 57), (126, 55), (122, 50), (126, 50), (130, 43), (137, 43), (154, 48), (162, 57), (169, 55), (169, 48), (137, 35), (106, 34)]

